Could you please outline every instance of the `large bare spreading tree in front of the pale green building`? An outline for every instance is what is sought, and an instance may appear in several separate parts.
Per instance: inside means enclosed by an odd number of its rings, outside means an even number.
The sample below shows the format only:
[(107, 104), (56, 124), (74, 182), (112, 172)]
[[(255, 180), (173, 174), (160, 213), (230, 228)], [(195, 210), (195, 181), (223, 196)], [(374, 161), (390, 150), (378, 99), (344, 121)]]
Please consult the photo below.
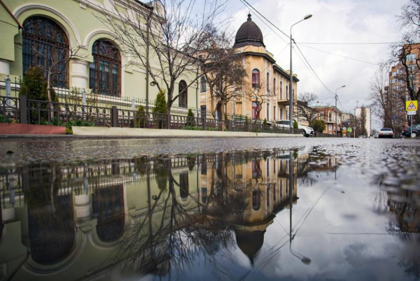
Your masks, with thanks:
[[(198, 53), (209, 46), (214, 36), (215, 17), (223, 11), (221, 0), (161, 0), (149, 4), (125, 1), (124, 7), (113, 2), (113, 11), (103, 8), (98, 19), (121, 42), (131, 64), (142, 66), (159, 91), (168, 94), (170, 109), (188, 87), (204, 75), (199, 71)], [(191, 80), (180, 93), (175, 85), (184, 74)]]

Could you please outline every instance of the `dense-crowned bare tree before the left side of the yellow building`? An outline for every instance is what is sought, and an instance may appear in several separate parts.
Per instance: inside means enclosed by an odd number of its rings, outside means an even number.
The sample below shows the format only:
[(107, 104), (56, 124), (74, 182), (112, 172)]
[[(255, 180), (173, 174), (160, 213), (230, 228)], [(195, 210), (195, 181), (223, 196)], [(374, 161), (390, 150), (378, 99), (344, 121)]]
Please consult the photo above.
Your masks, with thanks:
[(222, 121), (226, 104), (244, 96), (242, 85), (247, 75), (242, 65), (242, 56), (231, 47), (231, 38), (226, 32), (220, 33), (209, 49), (210, 60), (203, 65), (206, 82), (210, 88), (211, 106), (214, 106), (213, 99), (220, 104)]

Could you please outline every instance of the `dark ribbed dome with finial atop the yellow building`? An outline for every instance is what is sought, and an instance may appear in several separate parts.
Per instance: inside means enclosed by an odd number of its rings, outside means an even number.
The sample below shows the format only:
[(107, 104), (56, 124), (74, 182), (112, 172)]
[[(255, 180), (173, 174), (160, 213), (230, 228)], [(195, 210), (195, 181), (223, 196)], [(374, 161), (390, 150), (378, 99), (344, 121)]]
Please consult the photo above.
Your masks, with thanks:
[(237, 48), (248, 45), (265, 47), (262, 38), (262, 32), (259, 27), (252, 21), (251, 14), (248, 14), (247, 21), (244, 22), (238, 29), (233, 47)]

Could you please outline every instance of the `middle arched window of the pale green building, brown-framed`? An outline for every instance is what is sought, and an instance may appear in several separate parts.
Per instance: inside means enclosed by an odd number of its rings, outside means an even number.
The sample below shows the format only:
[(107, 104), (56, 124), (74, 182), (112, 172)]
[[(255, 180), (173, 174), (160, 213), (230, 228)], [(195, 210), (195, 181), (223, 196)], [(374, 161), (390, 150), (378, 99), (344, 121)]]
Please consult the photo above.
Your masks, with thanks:
[(110, 41), (97, 40), (92, 47), (89, 88), (99, 94), (121, 96), (121, 56)]

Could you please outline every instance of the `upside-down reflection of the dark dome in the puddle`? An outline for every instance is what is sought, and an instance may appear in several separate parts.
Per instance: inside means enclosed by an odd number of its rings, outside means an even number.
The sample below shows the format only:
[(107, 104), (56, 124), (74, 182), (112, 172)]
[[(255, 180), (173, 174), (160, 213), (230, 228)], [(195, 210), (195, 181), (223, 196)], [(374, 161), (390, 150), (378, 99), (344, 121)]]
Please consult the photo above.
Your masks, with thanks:
[(236, 243), (241, 251), (248, 256), (253, 265), (253, 259), (258, 255), (259, 250), (264, 243), (263, 231), (235, 231)]

